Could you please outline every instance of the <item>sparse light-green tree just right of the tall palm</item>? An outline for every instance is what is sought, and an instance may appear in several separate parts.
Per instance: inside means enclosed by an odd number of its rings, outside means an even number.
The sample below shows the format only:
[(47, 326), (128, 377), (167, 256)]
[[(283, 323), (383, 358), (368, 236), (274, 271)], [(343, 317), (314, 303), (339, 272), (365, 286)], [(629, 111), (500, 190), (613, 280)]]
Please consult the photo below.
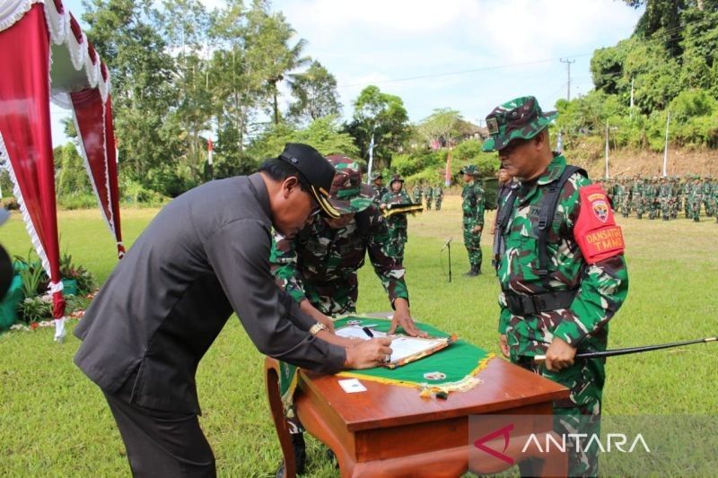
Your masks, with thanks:
[(337, 79), (320, 62), (312, 62), (304, 73), (290, 74), (289, 87), (296, 99), (289, 114), (300, 122), (341, 114)]

